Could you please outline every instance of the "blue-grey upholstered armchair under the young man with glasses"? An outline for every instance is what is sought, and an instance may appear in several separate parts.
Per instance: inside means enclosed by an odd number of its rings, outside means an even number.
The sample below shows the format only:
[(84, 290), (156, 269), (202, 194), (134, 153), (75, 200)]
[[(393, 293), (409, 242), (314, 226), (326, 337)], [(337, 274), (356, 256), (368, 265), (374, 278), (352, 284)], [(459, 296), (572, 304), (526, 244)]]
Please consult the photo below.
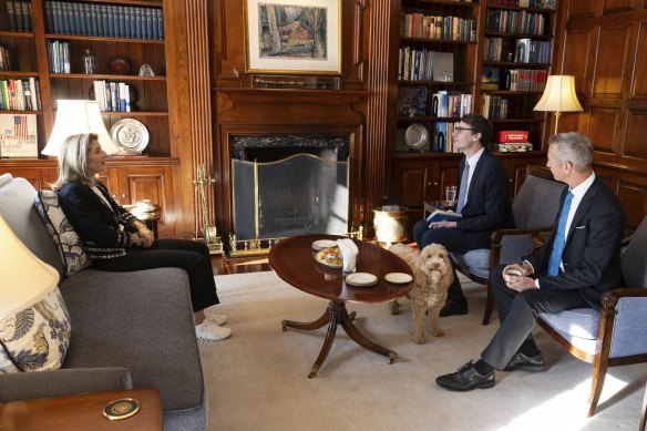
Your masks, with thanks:
[(494, 294), (490, 271), (499, 265), (520, 260), (533, 246), (533, 235), (551, 232), (559, 211), (559, 197), (566, 184), (556, 182), (545, 167), (527, 166), (526, 178), (512, 202), (516, 228), (494, 230), (490, 248), (452, 254), (456, 270), (471, 280), (487, 286), (483, 325), (490, 322), (494, 309)]

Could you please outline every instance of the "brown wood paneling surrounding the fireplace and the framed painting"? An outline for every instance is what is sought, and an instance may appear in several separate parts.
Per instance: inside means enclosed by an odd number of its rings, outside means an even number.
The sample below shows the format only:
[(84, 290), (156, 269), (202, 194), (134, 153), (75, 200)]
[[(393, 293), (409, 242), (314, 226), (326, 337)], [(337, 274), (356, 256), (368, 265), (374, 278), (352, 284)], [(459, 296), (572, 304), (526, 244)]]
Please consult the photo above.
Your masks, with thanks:
[[(351, 135), (351, 220), (369, 227), (383, 195), (387, 63), (391, 0), (342, 0), (340, 90), (253, 89), (245, 73), (243, 0), (209, 2), (213, 175), (216, 224), (230, 219), (232, 134), (346, 133)], [(396, 17), (397, 18), (397, 17)]]

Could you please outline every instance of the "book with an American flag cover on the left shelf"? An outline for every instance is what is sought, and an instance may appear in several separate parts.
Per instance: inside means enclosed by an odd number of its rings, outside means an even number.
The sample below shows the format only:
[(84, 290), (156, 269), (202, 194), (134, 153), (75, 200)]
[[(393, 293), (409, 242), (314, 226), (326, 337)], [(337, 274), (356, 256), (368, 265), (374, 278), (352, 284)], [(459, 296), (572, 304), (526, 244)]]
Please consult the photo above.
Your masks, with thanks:
[(0, 114), (0, 157), (38, 158), (35, 114)]

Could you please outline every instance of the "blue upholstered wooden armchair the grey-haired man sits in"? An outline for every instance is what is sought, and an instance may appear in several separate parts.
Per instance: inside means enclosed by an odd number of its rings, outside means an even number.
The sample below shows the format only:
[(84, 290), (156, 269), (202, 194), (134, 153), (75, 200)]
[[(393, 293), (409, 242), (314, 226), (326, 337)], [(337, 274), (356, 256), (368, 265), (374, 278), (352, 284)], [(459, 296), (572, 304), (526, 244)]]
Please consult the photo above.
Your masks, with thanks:
[(595, 413), (608, 367), (647, 362), (646, 250), (647, 217), (623, 252), (625, 286), (607, 290), (599, 311), (582, 308), (537, 317), (537, 324), (571, 355), (593, 363), (589, 417)]

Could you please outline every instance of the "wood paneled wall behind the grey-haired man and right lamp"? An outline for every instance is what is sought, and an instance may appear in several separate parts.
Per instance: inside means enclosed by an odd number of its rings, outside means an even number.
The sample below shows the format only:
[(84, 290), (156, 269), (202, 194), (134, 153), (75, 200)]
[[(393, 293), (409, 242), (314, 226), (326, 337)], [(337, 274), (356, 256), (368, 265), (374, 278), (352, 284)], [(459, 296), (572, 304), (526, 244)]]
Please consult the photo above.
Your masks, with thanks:
[(584, 112), (559, 131), (587, 134), (596, 172), (636, 227), (647, 214), (647, 1), (562, 0), (556, 74), (575, 75)]

